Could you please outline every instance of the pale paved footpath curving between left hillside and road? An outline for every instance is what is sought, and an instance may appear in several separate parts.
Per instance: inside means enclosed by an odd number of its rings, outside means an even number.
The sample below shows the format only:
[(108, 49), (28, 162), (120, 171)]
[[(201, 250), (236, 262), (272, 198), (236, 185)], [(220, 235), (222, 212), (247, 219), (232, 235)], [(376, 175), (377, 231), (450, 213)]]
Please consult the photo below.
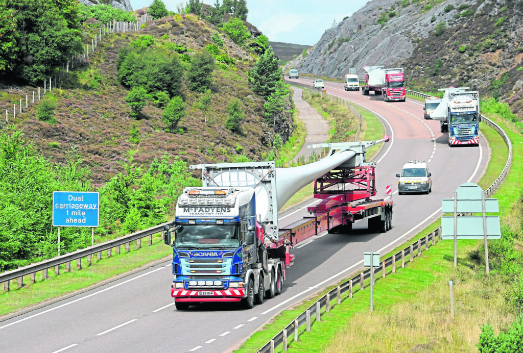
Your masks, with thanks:
[[(327, 142), (329, 124), (325, 119), (323, 119), (323, 116), (321, 116), (315, 108), (312, 108), (309, 103), (301, 99), (303, 89), (295, 86), (293, 86), (292, 89), (294, 90), (292, 99), (294, 100), (294, 105), (298, 110), (298, 117), (305, 123), (305, 129), (307, 131), (305, 143), (296, 157), (294, 157), (294, 160), (297, 160), (300, 156), (304, 156), (305, 161), (308, 161), (309, 156), (312, 154), (313, 150), (307, 148), (307, 146)], [(315, 150), (317, 153), (320, 152), (319, 149)]]

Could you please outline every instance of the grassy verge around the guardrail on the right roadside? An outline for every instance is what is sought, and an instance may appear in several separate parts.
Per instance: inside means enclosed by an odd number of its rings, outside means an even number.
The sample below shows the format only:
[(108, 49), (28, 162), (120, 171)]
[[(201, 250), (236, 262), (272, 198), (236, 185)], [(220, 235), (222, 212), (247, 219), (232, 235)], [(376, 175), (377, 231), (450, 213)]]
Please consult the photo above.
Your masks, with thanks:
[[(457, 268), (453, 267), (453, 242), (436, 243), (405, 268), (397, 268), (396, 274), (389, 276), (389, 269), (388, 277), (376, 281), (373, 312), (369, 308), (370, 291), (355, 288), (354, 298), (348, 298), (346, 293), (341, 305), (331, 301), (334, 308), (329, 313), (323, 309), (321, 321), (313, 322), (311, 332), (304, 333), (303, 328), (299, 342), (293, 342), (290, 337), (288, 351), (477, 351), (480, 334), (484, 342), (508, 331), (523, 309), (523, 196), (520, 192), (523, 130), (520, 123), (493, 112), (495, 110), (485, 113), (483, 109), (483, 113), (503, 127), (514, 150), (508, 177), (493, 196), (499, 200), (502, 239), (490, 240), (488, 244), (491, 275), (485, 275), (482, 241), (459, 242)], [(481, 131), (495, 156), (479, 182), (485, 190), (502, 172), (508, 148), (491, 128), (482, 124)], [(439, 226), (440, 220), (382, 258), (424, 238)], [(449, 280), (454, 284), (456, 315), (453, 319), (449, 309)], [(284, 310), (236, 352), (256, 351), (342, 282)], [(483, 326), (487, 323), (492, 326)], [(485, 334), (482, 334), (482, 328)], [(276, 351), (282, 351), (282, 347), (277, 347)]]

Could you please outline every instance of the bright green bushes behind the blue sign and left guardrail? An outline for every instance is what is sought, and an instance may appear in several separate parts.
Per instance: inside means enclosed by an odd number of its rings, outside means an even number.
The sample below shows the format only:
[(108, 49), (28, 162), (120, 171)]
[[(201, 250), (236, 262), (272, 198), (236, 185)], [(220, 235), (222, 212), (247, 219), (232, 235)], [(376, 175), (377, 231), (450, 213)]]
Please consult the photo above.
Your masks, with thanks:
[[(0, 272), (57, 255), (52, 226), (53, 191), (95, 191), (88, 167), (72, 150), (64, 164), (54, 164), (26, 144), (20, 131), (0, 131)], [(165, 221), (184, 186), (201, 185), (187, 164), (165, 154), (147, 170), (124, 164), (100, 193), (100, 222), (95, 237), (105, 241)], [(166, 195), (167, 197), (159, 197)], [(64, 227), (61, 254), (91, 245), (89, 228)]]

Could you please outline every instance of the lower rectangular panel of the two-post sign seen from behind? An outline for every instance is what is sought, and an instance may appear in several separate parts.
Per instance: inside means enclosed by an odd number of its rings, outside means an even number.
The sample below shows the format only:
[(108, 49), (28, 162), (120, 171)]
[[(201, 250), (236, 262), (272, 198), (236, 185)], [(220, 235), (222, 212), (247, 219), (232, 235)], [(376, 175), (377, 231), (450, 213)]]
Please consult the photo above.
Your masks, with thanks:
[[(483, 217), (462, 216), (458, 219), (458, 239), (483, 239)], [(486, 216), (487, 238), (500, 239), (498, 216)], [(441, 239), (454, 239), (454, 217), (441, 217)]]

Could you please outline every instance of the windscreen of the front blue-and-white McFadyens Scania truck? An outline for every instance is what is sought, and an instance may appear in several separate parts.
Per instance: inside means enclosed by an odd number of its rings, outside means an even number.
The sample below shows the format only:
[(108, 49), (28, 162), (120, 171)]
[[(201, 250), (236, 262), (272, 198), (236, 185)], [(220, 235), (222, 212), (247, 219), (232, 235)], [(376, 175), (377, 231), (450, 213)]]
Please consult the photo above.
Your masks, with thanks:
[(176, 249), (232, 249), (240, 246), (240, 237), (236, 225), (184, 225), (178, 229), (174, 245)]

